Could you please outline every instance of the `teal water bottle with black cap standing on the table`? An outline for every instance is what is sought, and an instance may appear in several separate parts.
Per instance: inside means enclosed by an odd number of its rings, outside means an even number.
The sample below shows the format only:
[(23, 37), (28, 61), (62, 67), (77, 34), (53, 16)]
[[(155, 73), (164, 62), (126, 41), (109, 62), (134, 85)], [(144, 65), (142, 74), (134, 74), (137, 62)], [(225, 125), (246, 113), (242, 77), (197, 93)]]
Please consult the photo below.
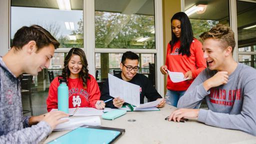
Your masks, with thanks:
[(66, 79), (59, 78), (58, 86), (58, 110), (68, 113), (68, 87)]

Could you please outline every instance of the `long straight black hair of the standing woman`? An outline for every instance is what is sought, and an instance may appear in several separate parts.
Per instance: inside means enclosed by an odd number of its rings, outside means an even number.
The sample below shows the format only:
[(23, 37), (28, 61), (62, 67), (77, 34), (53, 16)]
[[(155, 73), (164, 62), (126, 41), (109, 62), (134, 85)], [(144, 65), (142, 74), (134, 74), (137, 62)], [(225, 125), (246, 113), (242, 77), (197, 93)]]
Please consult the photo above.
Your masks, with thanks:
[[(187, 55), (190, 56), (190, 44), (193, 41), (193, 31), (192, 31), (192, 26), (189, 21), (188, 16), (184, 12), (177, 12), (175, 13), (171, 19), (170, 22), (172, 22), (173, 19), (177, 19), (180, 21), (180, 28), (181, 28), (181, 33), (180, 33), (180, 48), (178, 53), (181, 53), (182, 55)], [(170, 44), (170, 49), (172, 51), (173, 45), (178, 41), (178, 38), (174, 34), (174, 32), (171, 30), (171, 40), (169, 42)]]

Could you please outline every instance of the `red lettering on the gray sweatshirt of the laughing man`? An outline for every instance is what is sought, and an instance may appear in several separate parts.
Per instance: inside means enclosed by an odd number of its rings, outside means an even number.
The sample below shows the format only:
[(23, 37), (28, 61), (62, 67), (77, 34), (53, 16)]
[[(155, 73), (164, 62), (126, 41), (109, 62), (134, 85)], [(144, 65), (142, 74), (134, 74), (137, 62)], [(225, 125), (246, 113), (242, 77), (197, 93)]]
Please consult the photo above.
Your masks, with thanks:
[(241, 89), (210, 89), (210, 102), (221, 105), (233, 106), (235, 100), (241, 100)]

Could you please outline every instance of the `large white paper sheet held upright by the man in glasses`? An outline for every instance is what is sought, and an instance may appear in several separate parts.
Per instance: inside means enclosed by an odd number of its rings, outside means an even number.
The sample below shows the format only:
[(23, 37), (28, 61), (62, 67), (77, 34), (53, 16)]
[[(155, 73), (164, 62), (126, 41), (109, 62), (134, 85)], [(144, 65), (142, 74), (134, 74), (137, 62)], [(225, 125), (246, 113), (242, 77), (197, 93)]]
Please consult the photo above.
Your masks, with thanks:
[(120, 97), (125, 102), (139, 106), (139, 85), (127, 82), (108, 73), (109, 95)]

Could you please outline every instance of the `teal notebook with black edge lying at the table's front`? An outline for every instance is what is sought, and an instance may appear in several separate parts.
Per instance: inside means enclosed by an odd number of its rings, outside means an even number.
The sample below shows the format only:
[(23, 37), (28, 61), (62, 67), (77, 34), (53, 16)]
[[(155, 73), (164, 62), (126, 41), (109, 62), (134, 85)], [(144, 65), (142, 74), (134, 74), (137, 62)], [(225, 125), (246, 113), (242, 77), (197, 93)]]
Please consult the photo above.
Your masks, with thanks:
[(79, 127), (49, 143), (111, 143), (122, 132), (118, 130), (109, 130), (114, 128), (106, 128), (108, 127), (102, 129)]

